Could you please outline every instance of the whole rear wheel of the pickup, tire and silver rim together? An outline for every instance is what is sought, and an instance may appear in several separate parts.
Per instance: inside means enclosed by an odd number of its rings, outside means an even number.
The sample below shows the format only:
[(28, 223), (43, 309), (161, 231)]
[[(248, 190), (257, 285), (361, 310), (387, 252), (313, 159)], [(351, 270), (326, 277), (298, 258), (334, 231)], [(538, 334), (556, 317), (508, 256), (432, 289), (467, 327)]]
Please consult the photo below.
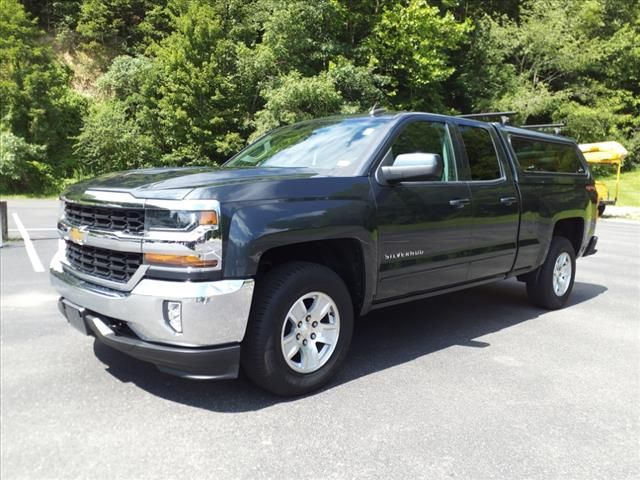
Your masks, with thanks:
[(527, 279), (527, 294), (534, 305), (556, 310), (571, 295), (576, 272), (573, 245), (564, 237), (553, 237), (547, 258)]

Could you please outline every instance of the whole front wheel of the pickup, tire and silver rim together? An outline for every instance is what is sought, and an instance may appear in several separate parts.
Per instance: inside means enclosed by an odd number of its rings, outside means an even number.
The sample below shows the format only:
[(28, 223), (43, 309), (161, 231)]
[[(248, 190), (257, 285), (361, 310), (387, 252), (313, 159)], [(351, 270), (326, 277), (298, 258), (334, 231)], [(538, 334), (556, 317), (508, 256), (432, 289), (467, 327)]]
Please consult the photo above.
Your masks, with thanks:
[(294, 262), (259, 279), (242, 367), (277, 395), (315, 390), (336, 373), (353, 332), (349, 290), (332, 270)]

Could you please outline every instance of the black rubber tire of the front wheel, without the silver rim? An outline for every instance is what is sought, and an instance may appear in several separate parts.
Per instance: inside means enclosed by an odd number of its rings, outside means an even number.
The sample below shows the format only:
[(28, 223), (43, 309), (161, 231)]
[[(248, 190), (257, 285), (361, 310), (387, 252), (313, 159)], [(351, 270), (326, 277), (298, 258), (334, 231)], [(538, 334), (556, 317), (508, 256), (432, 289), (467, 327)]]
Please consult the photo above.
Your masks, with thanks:
[[(339, 312), (333, 353), (312, 373), (299, 373), (282, 352), (283, 325), (289, 309), (310, 292), (328, 295)], [(353, 303), (346, 285), (332, 270), (315, 263), (291, 262), (258, 279), (241, 362), (247, 376), (276, 395), (302, 395), (326, 384), (344, 361), (353, 334)]]

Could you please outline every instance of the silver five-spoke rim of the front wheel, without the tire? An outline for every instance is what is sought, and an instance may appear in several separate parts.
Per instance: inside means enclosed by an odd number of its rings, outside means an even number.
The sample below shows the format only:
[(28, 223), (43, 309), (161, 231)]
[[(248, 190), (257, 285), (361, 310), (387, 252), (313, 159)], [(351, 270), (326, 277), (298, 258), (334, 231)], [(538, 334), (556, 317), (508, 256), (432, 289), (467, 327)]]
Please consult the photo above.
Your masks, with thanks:
[(333, 299), (310, 292), (296, 300), (287, 313), (280, 347), (287, 365), (298, 373), (313, 373), (331, 358), (340, 336), (340, 313)]

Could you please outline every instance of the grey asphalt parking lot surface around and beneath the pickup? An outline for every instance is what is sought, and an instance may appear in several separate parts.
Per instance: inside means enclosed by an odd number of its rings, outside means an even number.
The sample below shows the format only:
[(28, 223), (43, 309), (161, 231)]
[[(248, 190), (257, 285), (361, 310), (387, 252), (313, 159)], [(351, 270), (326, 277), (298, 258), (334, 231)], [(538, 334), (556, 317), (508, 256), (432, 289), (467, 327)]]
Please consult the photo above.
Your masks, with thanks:
[[(54, 201), (9, 201), (41, 263)], [(48, 230), (47, 230), (48, 229)], [(640, 222), (603, 220), (570, 306), (505, 281), (360, 319), (322, 391), (163, 374), (72, 330), (23, 241), (0, 249), (0, 476), (640, 478)]]

